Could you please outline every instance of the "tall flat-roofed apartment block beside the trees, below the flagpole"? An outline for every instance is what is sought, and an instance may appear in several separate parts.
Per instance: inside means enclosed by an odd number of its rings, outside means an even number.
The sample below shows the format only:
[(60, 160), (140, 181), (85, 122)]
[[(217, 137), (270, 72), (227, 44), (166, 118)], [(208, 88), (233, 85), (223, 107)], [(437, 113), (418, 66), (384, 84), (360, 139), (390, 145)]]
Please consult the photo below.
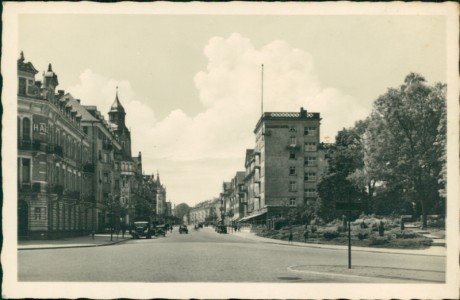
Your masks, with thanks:
[(241, 221), (270, 225), (290, 208), (316, 199), (324, 169), (320, 121), (319, 113), (303, 108), (262, 115), (254, 130), (254, 150), (246, 152), (248, 216)]

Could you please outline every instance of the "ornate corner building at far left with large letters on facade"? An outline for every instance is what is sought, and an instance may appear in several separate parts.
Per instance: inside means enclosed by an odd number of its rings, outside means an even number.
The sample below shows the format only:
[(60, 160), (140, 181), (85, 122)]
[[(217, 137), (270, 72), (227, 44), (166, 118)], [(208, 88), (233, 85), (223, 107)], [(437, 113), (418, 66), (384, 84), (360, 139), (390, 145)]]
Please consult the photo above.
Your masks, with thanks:
[(58, 76), (51, 64), (43, 82), (25, 62), (18, 68), (18, 235), (56, 237), (92, 228), (91, 141), (75, 105), (56, 93)]

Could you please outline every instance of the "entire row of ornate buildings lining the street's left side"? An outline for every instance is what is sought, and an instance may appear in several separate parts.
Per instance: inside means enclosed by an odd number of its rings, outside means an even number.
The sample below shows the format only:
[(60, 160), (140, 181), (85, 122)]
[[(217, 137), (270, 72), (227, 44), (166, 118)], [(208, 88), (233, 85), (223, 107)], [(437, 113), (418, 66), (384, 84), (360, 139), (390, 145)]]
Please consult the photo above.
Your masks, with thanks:
[(56, 90), (51, 64), (43, 81), (21, 53), (18, 68), (18, 235), (55, 237), (128, 228), (162, 219), (166, 188), (143, 175), (116, 92), (105, 120), (96, 106)]

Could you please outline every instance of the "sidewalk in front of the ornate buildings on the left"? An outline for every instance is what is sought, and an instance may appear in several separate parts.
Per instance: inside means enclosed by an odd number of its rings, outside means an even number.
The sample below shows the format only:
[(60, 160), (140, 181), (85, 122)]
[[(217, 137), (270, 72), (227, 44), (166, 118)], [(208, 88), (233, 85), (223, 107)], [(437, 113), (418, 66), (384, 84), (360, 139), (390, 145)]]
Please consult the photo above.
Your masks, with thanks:
[(112, 240), (110, 240), (110, 234), (96, 234), (94, 239), (88, 235), (58, 240), (28, 240), (18, 241), (18, 250), (99, 247), (118, 244), (130, 239), (130, 234), (125, 234), (124, 238), (121, 235), (118, 238), (113, 235)]

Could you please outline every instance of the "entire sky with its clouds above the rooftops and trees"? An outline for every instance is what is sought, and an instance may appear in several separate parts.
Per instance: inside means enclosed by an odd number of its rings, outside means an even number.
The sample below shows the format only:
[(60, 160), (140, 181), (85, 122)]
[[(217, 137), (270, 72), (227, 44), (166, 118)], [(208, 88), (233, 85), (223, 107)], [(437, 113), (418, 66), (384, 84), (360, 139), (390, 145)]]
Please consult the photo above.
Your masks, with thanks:
[(262, 64), (264, 111), (319, 112), (332, 142), (410, 72), (446, 82), (445, 26), (434, 15), (24, 14), (18, 49), (37, 79), (51, 63), (58, 89), (106, 118), (118, 86), (145, 174), (194, 205), (244, 170)]

